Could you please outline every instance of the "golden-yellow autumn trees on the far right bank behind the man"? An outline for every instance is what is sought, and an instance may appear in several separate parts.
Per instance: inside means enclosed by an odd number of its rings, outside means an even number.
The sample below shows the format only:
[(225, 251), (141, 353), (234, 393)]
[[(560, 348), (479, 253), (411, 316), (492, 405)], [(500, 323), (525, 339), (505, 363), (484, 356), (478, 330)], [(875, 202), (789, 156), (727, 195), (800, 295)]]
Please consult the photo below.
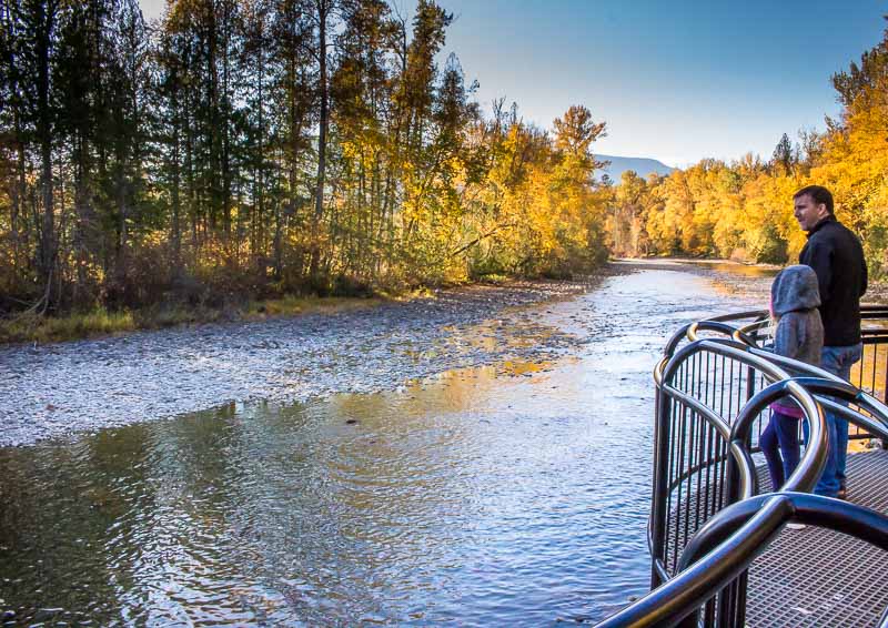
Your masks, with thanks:
[(830, 189), (838, 219), (858, 233), (875, 277), (888, 273), (888, 30), (859, 62), (833, 77), (840, 115), (826, 131), (784, 134), (770, 161), (702, 160), (668, 176), (624, 173), (608, 232), (619, 255), (695, 255), (783, 264), (805, 235), (793, 194)]

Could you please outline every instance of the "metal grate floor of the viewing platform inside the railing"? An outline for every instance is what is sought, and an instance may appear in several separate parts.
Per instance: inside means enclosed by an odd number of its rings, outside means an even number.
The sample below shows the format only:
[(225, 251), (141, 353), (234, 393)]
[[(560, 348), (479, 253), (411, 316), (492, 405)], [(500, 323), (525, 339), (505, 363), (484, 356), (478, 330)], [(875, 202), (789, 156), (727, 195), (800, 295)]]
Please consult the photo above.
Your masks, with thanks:
[[(763, 492), (767, 469), (759, 468)], [(848, 498), (888, 514), (888, 450), (848, 456)], [(747, 625), (858, 627), (888, 607), (888, 554), (847, 535), (784, 529), (749, 569)]]

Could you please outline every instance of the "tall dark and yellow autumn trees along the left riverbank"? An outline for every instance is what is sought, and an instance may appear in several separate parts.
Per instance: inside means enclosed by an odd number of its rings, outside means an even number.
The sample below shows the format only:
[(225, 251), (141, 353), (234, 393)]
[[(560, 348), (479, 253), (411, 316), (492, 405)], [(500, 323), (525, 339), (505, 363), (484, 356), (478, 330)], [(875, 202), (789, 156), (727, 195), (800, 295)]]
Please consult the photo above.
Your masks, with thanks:
[(383, 0), (171, 0), (157, 23), (135, 0), (0, 0), (0, 315), (125, 328), (594, 267), (604, 123), (482, 114), (438, 59), (452, 19), (427, 0), (411, 20)]

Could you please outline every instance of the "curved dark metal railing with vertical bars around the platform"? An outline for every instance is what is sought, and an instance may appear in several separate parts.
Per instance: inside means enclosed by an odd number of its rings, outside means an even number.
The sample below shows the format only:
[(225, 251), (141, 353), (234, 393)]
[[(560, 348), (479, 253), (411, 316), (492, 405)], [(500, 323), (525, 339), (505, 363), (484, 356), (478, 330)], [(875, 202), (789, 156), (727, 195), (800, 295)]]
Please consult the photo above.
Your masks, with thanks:
[[(851, 384), (764, 351), (764, 312), (689, 324), (668, 341), (654, 372), (653, 590), (601, 626), (743, 626), (746, 570), (790, 519), (888, 549), (888, 518), (807, 495), (826, 464), (825, 411), (849, 422), (850, 438), (888, 439), (888, 308), (864, 316)], [(759, 495), (753, 456), (781, 397), (801, 407), (809, 438), (784, 486)]]

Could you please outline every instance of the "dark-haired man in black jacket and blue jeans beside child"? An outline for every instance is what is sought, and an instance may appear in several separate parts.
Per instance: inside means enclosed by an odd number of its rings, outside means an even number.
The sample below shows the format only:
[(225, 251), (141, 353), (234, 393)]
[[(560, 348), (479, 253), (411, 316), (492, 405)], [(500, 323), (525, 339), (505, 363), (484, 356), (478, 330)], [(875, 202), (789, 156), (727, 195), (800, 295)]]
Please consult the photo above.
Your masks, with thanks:
[[(860, 359), (860, 297), (867, 290), (867, 265), (860, 241), (833, 214), (833, 194), (821, 185), (808, 185), (793, 196), (795, 215), (808, 242), (799, 263), (814, 269), (820, 288), (824, 351), (820, 366), (850, 379), (851, 365)], [(845, 464), (848, 422), (827, 413), (829, 456), (815, 493), (846, 498)]]

